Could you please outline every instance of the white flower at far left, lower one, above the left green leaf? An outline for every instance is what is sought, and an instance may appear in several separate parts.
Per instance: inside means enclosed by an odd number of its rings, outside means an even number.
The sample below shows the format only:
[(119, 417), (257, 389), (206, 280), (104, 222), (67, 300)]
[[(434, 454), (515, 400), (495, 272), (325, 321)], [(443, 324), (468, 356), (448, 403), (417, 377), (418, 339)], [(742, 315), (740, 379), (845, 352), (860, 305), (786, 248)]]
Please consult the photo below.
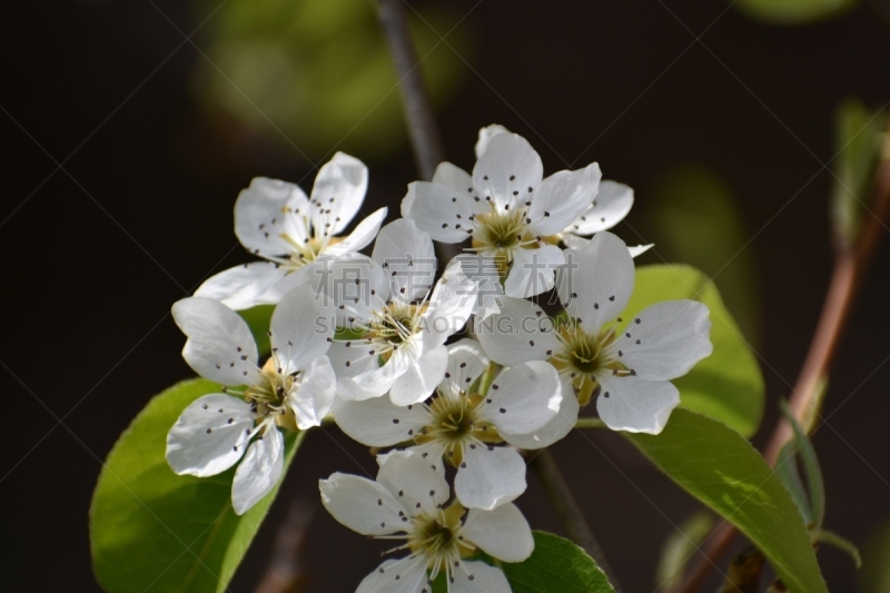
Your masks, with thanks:
[(177, 474), (206, 477), (244, 456), (231, 484), (233, 507), (244, 514), (281, 476), (278, 427), (318, 426), (334, 403), (336, 376), (325, 356), (332, 334), (316, 323), (325, 309), (308, 286), (283, 298), (271, 316), (273, 353), (263, 367), (247, 324), (219, 302), (185, 298), (172, 314), (188, 336), (182, 356), (189, 366), (221, 385), (246, 387), (224, 387), (238, 397), (206, 395), (186, 407), (167, 435), (167, 462)]

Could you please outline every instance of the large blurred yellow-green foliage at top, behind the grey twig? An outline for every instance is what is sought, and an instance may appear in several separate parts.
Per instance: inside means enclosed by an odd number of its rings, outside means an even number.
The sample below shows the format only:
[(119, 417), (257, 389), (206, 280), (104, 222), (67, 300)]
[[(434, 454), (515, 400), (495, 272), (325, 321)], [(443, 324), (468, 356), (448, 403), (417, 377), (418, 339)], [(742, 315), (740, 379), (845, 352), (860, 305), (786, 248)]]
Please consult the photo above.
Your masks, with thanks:
[[(414, 10), (408, 17), (437, 107), (469, 72), (458, 55), (473, 57), (472, 23), (455, 27), (463, 13), (447, 3), (416, 10), (423, 18)], [(406, 138), (397, 77), (374, 2), (228, 0), (206, 29), (212, 63), (198, 61), (195, 82), (207, 112), (218, 119), (235, 118), (313, 158), (332, 146), (380, 158)], [(441, 42), (446, 33), (447, 43)]]

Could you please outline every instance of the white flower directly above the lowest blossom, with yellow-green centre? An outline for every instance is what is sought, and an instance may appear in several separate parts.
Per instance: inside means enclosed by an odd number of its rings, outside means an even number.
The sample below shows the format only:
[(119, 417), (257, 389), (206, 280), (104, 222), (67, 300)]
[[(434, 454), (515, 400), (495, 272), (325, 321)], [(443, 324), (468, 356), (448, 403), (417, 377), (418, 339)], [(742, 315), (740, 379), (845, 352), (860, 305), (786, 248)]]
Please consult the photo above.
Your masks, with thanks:
[[(448, 369), (426, 403), (407, 407), (386, 398), (334, 405), (344, 433), (369, 446), (414, 442), (434, 468), (444, 459), (457, 468), (454, 488), (464, 506), (495, 508), (525, 492), (525, 462), (508, 446), (544, 427), (560, 412), (556, 370), (534, 360), (503, 370), (487, 394), (478, 393), (488, 359), (478, 344), (463, 339), (448, 347)], [(574, 398), (574, 397), (573, 397)], [(525, 438), (523, 438), (525, 436)], [(530, 448), (550, 443), (540, 442)]]

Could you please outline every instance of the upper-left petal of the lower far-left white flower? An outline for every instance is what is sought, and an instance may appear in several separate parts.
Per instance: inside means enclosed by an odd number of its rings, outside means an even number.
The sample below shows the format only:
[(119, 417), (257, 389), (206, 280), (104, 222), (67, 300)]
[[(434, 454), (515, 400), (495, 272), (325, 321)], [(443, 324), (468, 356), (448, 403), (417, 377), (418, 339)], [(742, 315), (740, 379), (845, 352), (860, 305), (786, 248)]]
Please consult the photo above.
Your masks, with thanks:
[(210, 298), (189, 297), (174, 304), (172, 315), (188, 336), (182, 357), (200, 376), (222, 385), (259, 378), (256, 342), (237, 313)]

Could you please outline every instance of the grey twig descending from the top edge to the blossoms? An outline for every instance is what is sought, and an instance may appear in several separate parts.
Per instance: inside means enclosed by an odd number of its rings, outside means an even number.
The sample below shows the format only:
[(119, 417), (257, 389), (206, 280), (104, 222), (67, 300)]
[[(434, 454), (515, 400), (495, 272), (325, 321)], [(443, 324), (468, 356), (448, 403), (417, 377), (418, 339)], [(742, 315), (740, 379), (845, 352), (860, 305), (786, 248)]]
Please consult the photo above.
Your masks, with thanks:
[(417, 50), (411, 38), (408, 21), (405, 14), (404, 0), (379, 0), (380, 24), (389, 49), (402, 90), (402, 101), (405, 105), (405, 119), (414, 148), (414, 160), (421, 176), (429, 181), (436, 166), (445, 160), (442, 148), (442, 138), (429, 107), (429, 96), (421, 71), (421, 61)]

